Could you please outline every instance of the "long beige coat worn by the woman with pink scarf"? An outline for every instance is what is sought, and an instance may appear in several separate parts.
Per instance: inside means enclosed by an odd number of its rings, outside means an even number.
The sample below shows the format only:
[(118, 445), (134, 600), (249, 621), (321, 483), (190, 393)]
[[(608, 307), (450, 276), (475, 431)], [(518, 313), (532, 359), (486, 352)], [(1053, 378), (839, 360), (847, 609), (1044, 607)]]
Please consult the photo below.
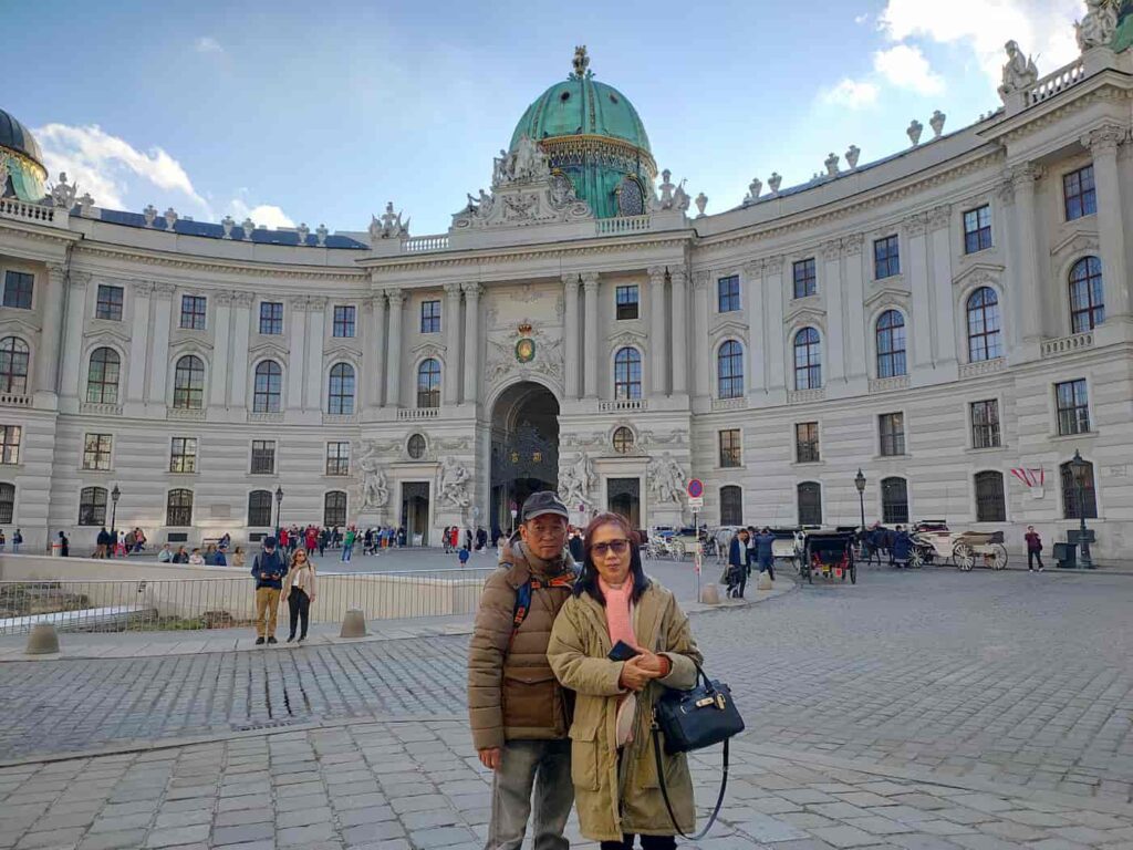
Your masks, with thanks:
[[(672, 818), (657, 782), (650, 725), (653, 705), (666, 687), (688, 690), (701, 663), (689, 619), (670, 590), (650, 580), (633, 610), (640, 646), (666, 655), (672, 671), (638, 694), (633, 740), (625, 745), (619, 771), (614, 724), (622, 662), (610, 661), (606, 612), (589, 594), (572, 596), (551, 631), (547, 658), (563, 687), (577, 695), (570, 728), (571, 779), (582, 834), (591, 841), (621, 841), (623, 833), (674, 835)], [(664, 746), (664, 741), (662, 741)], [(662, 753), (665, 784), (676, 821), (692, 832), (696, 811), (692, 780), (683, 755)]]

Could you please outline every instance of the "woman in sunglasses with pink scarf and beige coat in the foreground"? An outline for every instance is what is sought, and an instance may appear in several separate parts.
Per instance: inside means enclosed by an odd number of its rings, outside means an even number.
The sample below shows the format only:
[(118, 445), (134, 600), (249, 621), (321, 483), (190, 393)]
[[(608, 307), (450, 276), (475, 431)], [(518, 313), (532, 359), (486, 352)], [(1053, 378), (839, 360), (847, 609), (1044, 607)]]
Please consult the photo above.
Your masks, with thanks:
[[(571, 780), (582, 834), (603, 850), (676, 845), (650, 740), (653, 706), (665, 688), (696, 685), (701, 656), (673, 594), (646, 577), (637, 534), (614, 513), (583, 535), (582, 575), (555, 620), (547, 660), (576, 692)], [(638, 653), (613, 661), (623, 641)], [(684, 755), (663, 755), (665, 784), (682, 832), (696, 813)]]

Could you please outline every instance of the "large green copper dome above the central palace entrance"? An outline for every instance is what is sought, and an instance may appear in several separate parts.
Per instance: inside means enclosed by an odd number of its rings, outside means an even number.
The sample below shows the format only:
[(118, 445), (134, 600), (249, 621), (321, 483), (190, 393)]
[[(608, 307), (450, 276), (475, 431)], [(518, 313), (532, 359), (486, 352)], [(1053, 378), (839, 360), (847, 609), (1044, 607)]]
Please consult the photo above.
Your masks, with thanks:
[(629, 99), (595, 80), (589, 65), (586, 48), (576, 49), (574, 73), (527, 108), (511, 150), (523, 136), (537, 142), (599, 219), (644, 214), (657, 176), (649, 136)]

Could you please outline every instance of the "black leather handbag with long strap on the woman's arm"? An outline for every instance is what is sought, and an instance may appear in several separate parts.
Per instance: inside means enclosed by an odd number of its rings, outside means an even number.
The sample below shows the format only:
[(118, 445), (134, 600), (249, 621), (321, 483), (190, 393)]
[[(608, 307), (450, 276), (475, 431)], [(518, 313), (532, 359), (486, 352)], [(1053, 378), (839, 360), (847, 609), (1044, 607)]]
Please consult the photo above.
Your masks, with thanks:
[[(691, 690), (666, 689), (653, 708), (653, 756), (657, 762), (657, 780), (661, 794), (665, 798), (665, 808), (673, 822), (673, 827), (682, 838), (699, 841), (719, 815), (724, 805), (724, 792), (727, 790), (727, 756), (729, 741), (743, 731), (743, 717), (740, 716), (732, 690), (723, 682), (710, 681), (705, 671), (697, 666), (697, 683)], [(716, 807), (708, 823), (696, 835), (685, 834), (676, 824), (673, 806), (668, 801), (668, 788), (665, 787), (665, 765), (661, 756), (661, 737), (665, 737), (665, 753), (691, 753), (724, 742), (724, 774), (716, 796)]]

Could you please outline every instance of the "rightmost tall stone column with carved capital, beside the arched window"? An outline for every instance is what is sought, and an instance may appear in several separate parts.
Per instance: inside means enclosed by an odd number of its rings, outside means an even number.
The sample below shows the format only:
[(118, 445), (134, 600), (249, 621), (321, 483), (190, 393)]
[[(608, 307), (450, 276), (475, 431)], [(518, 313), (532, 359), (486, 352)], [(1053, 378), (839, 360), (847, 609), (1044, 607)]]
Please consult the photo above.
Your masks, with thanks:
[(1122, 214), (1122, 178), (1117, 146), (1125, 131), (1107, 125), (1092, 130), (1082, 144), (1093, 154), (1093, 181), (1098, 189), (1098, 241), (1101, 243), (1101, 280), (1106, 320), (1130, 315), (1130, 280), (1125, 253), (1125, 216)]

